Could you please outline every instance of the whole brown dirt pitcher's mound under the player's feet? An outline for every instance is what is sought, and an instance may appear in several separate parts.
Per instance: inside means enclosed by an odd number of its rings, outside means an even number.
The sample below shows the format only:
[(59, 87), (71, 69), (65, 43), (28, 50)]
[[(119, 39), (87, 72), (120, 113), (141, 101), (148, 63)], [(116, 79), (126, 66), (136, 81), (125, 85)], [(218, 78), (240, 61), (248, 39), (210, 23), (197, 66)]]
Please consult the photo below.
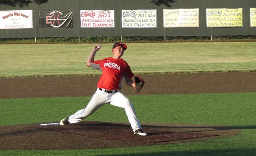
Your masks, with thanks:
[(62, 150), (175, 144), (232, 136), (242, 131), (239, 127), (216, 125), (143, 123), (142, 129), (148, 135), (139, 136), (134, 135), (128, 123), (94, 121), (54, 126), (40, 124), (42, 123), (1, 126), (0, 150)]

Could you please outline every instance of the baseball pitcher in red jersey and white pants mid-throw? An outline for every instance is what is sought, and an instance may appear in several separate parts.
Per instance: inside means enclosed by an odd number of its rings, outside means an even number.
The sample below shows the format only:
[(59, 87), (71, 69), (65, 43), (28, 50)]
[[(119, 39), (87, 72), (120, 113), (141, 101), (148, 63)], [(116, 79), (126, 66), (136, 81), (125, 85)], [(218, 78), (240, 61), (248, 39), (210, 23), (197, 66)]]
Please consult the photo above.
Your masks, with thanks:
[(146, 136), (147, 133), (142, 131), (142, 127), (137, 119), (132, 102), (119, 92), (119, 90), (121, 90), (121, 81), (123, 78), (128, 86), (135, 88), (137, 93), (140, 92), (144, 86), (144, 80), (139, 76), (135, 76), (135, 81), (132, 80), (134, 74), (132, 73), (128, 63), (121, 58), (122, 55), (124, 55), (124, 51), (127, 49), (127, 45), (120, 42), (115, 43), (112, 47), (113, 57), (94, 61), (95, 54), (100, 49), (100, 45), (94, 46), (87, 59), (88, 67), (98, 69), (102, 72), (95, 94), (92, 96), (92, 99), (86, 108), (62, 119), (60, 121), (60, 125), (67, 125), (82, 121), (84, 118), (92, 115), (92, 113), (102, 105), (110, 103), (110, 105), (121, 107), (125, 110), (134, 134)]

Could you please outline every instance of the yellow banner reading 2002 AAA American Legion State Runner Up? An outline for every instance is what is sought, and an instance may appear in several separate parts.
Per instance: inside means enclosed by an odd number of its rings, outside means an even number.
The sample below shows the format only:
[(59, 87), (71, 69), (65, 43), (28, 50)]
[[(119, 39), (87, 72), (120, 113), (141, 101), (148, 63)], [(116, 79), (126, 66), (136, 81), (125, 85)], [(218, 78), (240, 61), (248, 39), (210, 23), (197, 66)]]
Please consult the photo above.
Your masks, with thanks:
[(242, 8), (227, 9), (215, 8), (206, 9), (207, 27), (242, 27)]

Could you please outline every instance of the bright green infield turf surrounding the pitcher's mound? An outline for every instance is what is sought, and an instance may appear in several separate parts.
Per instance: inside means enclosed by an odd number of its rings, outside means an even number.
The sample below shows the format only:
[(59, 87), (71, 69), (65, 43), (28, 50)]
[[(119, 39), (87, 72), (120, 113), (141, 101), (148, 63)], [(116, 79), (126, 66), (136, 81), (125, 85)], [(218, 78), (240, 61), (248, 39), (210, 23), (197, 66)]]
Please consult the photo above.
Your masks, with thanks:
[[(240, 156), (256, 154), (256, 93), (128, 96), (142, 123), (232, 126), (242, 133), (200, 142), (90, 150), (6, 150), (3, 155), (179, 155)], [(90, 97), (0, 99), (1, 125), (59, 121), (86, 106)], [(62, 109), (60, 109), (62, 108)], [(68, 108), (68, 109), (67, 109)], [(115, 112), (115, 113), (109, 113)], [(104, 105), (84, 121), (127, 122), (123, 109)], [(0, 155), (1, 155), (0, 153)]]

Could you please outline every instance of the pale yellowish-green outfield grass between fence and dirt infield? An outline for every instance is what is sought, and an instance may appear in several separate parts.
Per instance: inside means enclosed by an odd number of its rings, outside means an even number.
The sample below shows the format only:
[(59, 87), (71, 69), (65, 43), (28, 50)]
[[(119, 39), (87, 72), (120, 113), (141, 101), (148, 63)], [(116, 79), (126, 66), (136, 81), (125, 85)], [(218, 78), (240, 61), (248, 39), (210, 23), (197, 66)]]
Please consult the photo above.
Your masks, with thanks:
[[(0, 78), (97, 75), (86, 67), (95, 44), (2, 44)], [(112, 57), (110, 44), (95, 60)], [(134, 73), (256, 71), (256, 42), (128, 43), (123, 56)]]

